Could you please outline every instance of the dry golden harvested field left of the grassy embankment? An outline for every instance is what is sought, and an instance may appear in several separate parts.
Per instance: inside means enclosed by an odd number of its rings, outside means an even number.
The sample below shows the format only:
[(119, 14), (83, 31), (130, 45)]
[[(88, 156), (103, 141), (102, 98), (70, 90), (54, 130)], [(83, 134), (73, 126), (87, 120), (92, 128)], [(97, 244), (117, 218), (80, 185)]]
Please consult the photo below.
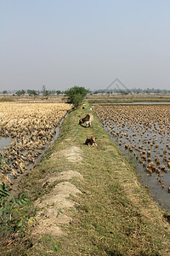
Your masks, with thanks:
[(11, 138), (0, 151), (0, 183), (12, 184), (35, 162), (70, 109), (65, 103), (0, 103), (0, 138)]

